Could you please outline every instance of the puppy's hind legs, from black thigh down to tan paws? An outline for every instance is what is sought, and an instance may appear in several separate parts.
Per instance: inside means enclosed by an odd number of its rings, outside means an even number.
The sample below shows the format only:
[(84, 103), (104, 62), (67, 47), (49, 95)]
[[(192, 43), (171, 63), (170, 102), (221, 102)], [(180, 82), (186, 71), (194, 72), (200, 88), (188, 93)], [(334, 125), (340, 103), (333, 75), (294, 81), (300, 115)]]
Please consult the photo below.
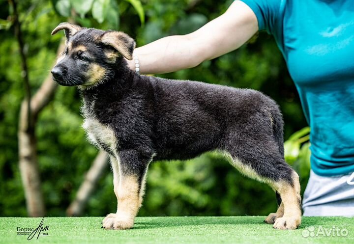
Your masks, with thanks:
[[(275, 143), (275, 142), (274, 142)], [(281, 203), (278, 211), (266, 218), (276, 229), (295, 229), (301, 222), (300, 184), (296, 172), (285, 163), (274, 143), (258, 141), (255, 148), (228, 150), (232, 164), (244, 175), (268, 184), (279, 193)], [(276, 150), (275, 150), (276, 149)]]

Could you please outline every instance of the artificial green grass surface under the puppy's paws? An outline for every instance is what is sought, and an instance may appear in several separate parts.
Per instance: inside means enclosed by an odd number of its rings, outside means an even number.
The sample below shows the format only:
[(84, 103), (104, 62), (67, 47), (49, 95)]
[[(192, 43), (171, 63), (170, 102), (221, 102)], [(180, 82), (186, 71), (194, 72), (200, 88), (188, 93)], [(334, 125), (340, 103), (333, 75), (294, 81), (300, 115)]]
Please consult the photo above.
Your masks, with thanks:
[[(16, 235), (17, 227), (36, 228), (42, 218), (0, 217), (0, 244), (354, 244), (354, 218), (303, 217), (297, 230), (275, 230), (265, 217), (137, 217), (133, 229), (101, 229), (103, 217), (45, 217), (48, 236)], [(346, 229), (343, 237), (303, 237), (313, 226)], [(310, 228), (312, 230), (312, 228)], [(305, 231), (305, 232), (303, 232)], [(346, 233), (346, 232), (343, 232)]]

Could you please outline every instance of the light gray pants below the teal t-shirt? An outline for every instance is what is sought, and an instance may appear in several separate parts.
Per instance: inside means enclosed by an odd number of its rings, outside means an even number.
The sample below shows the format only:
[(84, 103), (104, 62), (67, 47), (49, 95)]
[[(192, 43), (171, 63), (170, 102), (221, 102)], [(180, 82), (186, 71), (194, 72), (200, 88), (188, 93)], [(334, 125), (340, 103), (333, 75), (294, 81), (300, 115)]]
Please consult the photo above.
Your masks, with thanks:
[(354, 185), (347, 183), (351, 175), (326, 177), (311, 170), (303, 195), (303, 216), (354, 217)]

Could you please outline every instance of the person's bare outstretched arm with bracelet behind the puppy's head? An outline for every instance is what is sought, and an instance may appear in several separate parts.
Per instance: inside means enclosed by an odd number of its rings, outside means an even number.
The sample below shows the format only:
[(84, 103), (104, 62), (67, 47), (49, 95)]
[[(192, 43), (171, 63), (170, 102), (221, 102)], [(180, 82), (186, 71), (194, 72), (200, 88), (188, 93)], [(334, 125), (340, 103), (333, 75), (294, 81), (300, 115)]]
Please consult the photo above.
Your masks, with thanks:
[[(162, 74), (191, 68), (229, 53), (258, 31), (256, 15), (244, 2), (234, 1), (227, 11), (200, 29), (167, 36), (136, 48), (142, 74)], [(128, 60), (135, 70), (135, 61)]]

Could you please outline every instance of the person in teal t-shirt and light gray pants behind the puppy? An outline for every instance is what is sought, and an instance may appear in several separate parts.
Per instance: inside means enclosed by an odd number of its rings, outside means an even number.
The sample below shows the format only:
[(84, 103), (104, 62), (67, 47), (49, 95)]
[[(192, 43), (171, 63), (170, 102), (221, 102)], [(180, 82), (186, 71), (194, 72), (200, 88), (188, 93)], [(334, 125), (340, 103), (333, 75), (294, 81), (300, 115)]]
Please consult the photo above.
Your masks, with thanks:
[(274, 36), (311, 128), (303, 215), (354, 216), (354, 186), (347, 183), (354, 171), (353, 0), (235, 0), (192, 33), (137, 48), (128, 64), (134, 70), (139, 62), (143, 74), (195, 67), (259, 30)]

